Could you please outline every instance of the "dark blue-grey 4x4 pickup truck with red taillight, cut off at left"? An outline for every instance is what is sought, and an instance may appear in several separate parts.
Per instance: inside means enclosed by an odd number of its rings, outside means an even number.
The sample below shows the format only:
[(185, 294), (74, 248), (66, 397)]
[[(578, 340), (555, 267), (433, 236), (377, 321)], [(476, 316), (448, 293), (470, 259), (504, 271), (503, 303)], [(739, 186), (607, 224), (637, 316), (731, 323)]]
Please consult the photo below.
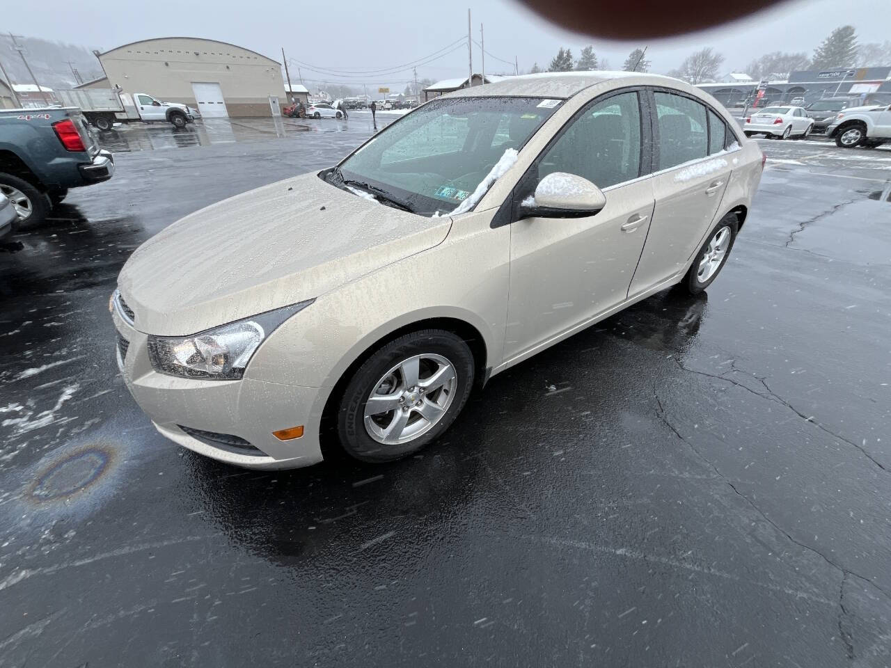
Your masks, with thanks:
[(0, 110), (0, 192), (20, 224), (43, 222), (69, 188), (112, 175), (114, 157), (100, 150), (79, 109)]

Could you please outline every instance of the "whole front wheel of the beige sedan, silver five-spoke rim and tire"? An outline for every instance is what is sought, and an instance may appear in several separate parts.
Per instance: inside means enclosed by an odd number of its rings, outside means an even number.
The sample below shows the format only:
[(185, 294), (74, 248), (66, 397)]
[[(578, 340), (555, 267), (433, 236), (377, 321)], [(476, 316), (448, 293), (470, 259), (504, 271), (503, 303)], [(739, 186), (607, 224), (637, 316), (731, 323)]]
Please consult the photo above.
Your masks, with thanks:
[(402, 459), (436, 440), (473, 387), (470, 347), (446, 330), (420, 330), (376, 350), (347, 383), (337, 433), (361, 461)]

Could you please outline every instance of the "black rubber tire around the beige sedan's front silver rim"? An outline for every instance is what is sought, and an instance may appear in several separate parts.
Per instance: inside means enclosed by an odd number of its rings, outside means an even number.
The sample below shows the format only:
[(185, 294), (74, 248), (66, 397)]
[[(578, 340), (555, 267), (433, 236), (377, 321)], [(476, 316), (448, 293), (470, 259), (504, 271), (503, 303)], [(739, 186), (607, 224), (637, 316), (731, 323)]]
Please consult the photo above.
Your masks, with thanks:
[[(365, 428), (364, 411), (369, 396), (380, 379), (397, 364), (419, 354), (446, 358), (455, 371), (454, 396), (446, 412), (432, 428), (402, 444), (381, 444)], [(421, 378), (426, 378), (421, 370)], [(400, 460), (435, 441), (462, 411), (473, 387), (474, 361), (464, 340), (446, 330), (410, 332), (380, 346), (347, 382), (339, 400), (337, 436), (341, 447), (356, 460), (381, 463)], [(445, 390), (442, 390), (445, 391)], [(431, 393), (432, 395), (432, 393)], [(421, 401), (424, 401), (421, 399)], [(396, 409), (395, 412), (400, 409)], [(411, 413), (410, 413), (411, 415)], [(395, 416), (394, 416), (395, 417)], [(420, 418), (412, 417), (411, 420)]]

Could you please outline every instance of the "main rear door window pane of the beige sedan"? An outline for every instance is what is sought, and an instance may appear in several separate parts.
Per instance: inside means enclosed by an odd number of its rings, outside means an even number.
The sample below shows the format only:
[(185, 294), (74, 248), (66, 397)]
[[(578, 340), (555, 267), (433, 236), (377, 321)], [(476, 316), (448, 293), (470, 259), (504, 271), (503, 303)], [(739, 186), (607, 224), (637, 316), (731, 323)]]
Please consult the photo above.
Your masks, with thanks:
[(688, 97), (655, 93), (659, 128), (659, 169), (708, 155), (706, 107)]

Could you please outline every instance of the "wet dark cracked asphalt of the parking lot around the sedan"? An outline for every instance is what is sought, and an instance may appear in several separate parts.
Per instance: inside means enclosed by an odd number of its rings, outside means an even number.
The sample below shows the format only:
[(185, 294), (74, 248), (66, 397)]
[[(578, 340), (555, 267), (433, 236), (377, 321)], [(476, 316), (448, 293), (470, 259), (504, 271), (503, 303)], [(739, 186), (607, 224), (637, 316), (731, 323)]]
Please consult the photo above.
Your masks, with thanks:
[(151, 428), (108, 298), (372, 128), (225, 125), (103, 137), (114, 179), (0, 253), (0, 666), (891, 664), (891, 151), (760, 142), (707, 294), (495, 377), (413, 459), (263, 474)]

